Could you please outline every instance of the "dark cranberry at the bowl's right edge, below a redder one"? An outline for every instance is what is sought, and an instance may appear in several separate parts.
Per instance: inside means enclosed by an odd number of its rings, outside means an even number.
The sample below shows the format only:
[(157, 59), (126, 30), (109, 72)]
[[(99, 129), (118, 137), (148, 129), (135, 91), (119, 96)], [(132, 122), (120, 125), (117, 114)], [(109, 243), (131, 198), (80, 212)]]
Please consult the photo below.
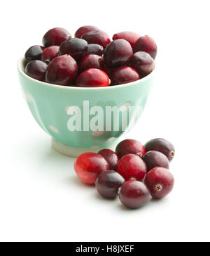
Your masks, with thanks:
[(137, 70), (140, 77), (145, 77), (150, 74), (155, 68), (155, 62), (153, 58), (144, 51), (138, 51), (134, 53), (130, 60), (132, 68)]

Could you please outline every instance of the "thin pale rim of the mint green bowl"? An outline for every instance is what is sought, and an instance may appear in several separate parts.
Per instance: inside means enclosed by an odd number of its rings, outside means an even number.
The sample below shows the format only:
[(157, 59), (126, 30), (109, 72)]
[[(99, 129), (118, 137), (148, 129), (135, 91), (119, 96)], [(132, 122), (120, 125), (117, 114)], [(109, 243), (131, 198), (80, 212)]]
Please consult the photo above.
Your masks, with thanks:
[(130, 87), (134, 84), (142, 84), (144, 83), (146, 80), (150, 79), (151, 77), (153, 77), (153, 75), (155, 74), (155, 71), (156, 71), (156, 68), (153, 69), (153, 71), (147, 75), (146, 77), (143, 77), (137, 81), (134, 81), (134, 82), (130, 82), (130, 83), (127, 83), (127, 84), (118, 84), (116, 86), (113, 86), (113, 87), (73, 87), (73, 86), (69, 86), (69, 87), (66, 87), (64, 85), (58, 85), (58, 84), (50, 84), (50, 83), (47, 83), (47, 82), (42, 82), (42, 81), (39, 81), (39, 80), (36, 80), (32, 77), (29, 77), (29, 75), (27, 75), (24, 71), (23, 71), (23, 63), (24, 63), (24, 60), (25, 58), (22, 57), (20, 58), (20, 60), (18, 60), (18, 71), (21, 73), (21, 75), (23, 75), (24, 77), (26, 77), (27, 79), (31, 80), (31, 81), (34, 81), (38, 84), (43, 84), (45, 85), (46, 87), (52, 87), (52, 88), (57, 88), (57, 89), (66, 89), (66, 90), (94, 90), (94, 91), (98, 91), (98, 90), (115, 90), (115, 89), (120, 89), (122, 87)]

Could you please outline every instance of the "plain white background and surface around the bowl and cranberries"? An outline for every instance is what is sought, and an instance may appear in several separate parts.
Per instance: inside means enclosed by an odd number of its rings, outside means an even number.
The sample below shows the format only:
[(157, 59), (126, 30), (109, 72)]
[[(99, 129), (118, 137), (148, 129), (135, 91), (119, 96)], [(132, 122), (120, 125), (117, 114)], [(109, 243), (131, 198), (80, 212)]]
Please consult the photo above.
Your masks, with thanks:
[[(209, 241), (209, 0), (3, 1), (0, 24), (0, 241)], [(176, 186), (141, 210), (82, 184), (22, 97), (18, 59), (50, 28), (82, 25), (158, 44), (155, 87), (127, 138), (172, 141)]]

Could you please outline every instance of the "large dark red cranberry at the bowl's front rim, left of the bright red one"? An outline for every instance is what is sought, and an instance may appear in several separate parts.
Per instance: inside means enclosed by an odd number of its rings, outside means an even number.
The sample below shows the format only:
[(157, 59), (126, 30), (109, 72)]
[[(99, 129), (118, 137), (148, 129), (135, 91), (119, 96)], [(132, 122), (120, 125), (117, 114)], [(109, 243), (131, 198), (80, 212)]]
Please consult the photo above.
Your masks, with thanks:
[(78, 73), (76, 61), (69, 55), (54, 58), (48, 65), (45, 82), (69, 86), (73, 84)]

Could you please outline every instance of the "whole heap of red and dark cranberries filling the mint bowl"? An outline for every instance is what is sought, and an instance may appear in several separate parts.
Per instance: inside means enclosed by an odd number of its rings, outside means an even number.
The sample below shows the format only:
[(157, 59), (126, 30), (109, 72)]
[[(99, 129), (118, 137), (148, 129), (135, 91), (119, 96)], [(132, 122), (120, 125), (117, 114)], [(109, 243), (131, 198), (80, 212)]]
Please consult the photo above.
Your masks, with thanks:
[(157, 46), (149, 36), (119, 32), (113, 41), (94, 26), (80, 27), (75, 37), (56, 27), (43, 36), (43, 46), (25, 53), (25, 73), (66, 87), (109, 87), (137, 81), (155, 68)]

